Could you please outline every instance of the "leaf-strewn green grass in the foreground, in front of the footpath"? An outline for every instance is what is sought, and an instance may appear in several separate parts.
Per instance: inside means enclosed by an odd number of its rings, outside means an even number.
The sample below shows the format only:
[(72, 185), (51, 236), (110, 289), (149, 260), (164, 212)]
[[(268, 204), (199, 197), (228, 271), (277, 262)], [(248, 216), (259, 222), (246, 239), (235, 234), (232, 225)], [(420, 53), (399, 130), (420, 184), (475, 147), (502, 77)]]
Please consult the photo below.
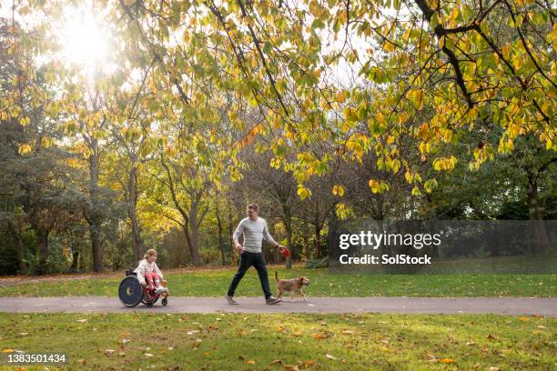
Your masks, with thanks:
[(0, 349), (66, 353), (70, 369), (87, 370), (549, 370), (556, 325), (495, 315), (3, 314)]

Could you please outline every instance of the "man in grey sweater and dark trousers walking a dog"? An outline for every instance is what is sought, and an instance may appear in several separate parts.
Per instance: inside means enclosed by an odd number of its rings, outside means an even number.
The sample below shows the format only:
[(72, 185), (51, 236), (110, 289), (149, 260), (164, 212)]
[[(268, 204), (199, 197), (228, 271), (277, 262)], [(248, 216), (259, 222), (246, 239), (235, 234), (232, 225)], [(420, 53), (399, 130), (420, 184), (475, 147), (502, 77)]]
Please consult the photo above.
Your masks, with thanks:
[[(265, 265), (265, 256), (261, 252), (261, 243), (263, 239), (268, 241), (275, 248), (279, 247), (279, 251), (285, 249), (285, 246), (280, 245), (275, 239), (268, 233), (267, 222), (265, 219), (258, 216), (259, 206), (258, 204), (248, 205), (248, 217), (242, 219), (232, 239), (234, 240), (234, 246), (238, 250), (240, 255), (240, 264), (238, 266), (238, 271), (232, 282), (228, 287), (227, 301), (228, 304), (238, 304), (234, 300), (234, 292), (236, 287), (242, 277), (246, 274), (250, 266), (255, 266), (258, 271), (259, 281), (261, 281), (261, 288), (265, 294), (265, 302), (269, 305), (277, 304), (280, 299), (271, 296), (270, 288), (268, 286), (268, 274), (267, 266)], [(244, 245), (239, 243), (240, 236), (244, 236)]]

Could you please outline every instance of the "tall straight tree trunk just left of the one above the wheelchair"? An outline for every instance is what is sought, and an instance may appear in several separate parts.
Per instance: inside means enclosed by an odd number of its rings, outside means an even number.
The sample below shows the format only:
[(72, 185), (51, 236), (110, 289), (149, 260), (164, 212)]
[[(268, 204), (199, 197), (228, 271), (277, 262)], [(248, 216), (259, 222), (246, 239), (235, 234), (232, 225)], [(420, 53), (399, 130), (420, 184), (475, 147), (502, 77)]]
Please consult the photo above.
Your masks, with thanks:
[(98, 162), (99, 157), (93, 150), (93, 154), (89, 156), (89, 175), (90, 184), (89, 192), (91, 198), (91, 213), (87, 218), (89, 223), (89, 231), (91, 235), (91, 250), (93, 255), (93, 270), (100, 272), (103, 269), (103, 252), (100, 244), (101, 217), (98, 205)]

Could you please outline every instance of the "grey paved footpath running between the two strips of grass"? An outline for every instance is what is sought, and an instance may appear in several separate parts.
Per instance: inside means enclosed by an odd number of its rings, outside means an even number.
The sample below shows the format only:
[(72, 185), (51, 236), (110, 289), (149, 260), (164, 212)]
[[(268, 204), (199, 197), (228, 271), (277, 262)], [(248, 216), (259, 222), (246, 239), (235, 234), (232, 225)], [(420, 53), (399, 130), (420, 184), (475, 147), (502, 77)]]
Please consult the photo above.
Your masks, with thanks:
[(0, 312), (13, 313), (494, 313), (557, 316), (557, 297), (311, 297), (267, 306), (262, 297), (168, 297), (168, 306), (122, 306), (117, 297), (0, 297)]

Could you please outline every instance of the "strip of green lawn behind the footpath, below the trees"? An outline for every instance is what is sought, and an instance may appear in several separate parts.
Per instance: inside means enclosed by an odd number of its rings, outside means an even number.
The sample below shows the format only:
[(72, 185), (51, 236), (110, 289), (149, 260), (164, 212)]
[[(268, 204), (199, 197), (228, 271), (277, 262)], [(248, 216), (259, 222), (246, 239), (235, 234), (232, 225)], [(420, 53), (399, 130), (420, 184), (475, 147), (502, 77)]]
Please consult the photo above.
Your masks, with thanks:
[[(269, 279), (274, 291), (274, 267)], [(223, 296), (233, 269), (167, 273), (173, 296)], [(279, 268), (281, 277), (308, 276), (309, 296), (555, 296), (557, 275), (371, 275), (333, 273), (328, 269)], [(123, 276), (65, 279), (1, 286), (0, 296), (116, 296)], [(237, 296), (261, 296), (258, 276), (250, 269)]]

